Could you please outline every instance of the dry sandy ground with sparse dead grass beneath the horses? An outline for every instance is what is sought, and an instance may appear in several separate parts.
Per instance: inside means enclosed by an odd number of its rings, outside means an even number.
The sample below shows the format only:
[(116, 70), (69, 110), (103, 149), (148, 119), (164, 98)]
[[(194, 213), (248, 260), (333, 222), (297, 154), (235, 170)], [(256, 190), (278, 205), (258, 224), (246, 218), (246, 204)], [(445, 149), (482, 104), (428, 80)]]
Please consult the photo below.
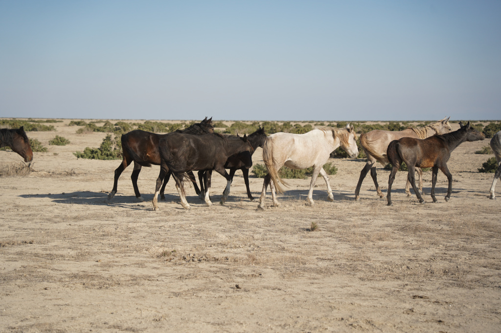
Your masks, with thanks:
[[(147, 201), (136, 201), (129, 167), (108, 204), (120, 161), (77, 159), (106, 134), (76, 134), (68, 122), (28, 132), (49, 148), (35, 153), (36, 172), (0, 178), (2, 332), (499, 331), (501, 200), (487, 198), (493, 175), (477, 172), (490, 155), (473, 153), (488, 139), (452, 153), (449, 202), (439, 173), (431, 203), (430, 171), (423, 204), (405, 195), (405, 172), (392, 207), (370, 176), (354, 201), (365, 161), (347, 158), (333, 160), (334, 202), (320, 178), (306, 206), (310, 180), (295, 179), (280, 207), (267, 195), (258, 211), (237, 172), (221, 206), (225, 180), (214, 173), (213, 206), (190, 187), (184, 210), (169, 183), (152, 211), (158, 167), (139, 176)], [(56, 134), (71, 144), (48, 145)], [(388, 175), (378, 165), (384, 192)], [(254, 196), (262, 184), (250, 179)]]

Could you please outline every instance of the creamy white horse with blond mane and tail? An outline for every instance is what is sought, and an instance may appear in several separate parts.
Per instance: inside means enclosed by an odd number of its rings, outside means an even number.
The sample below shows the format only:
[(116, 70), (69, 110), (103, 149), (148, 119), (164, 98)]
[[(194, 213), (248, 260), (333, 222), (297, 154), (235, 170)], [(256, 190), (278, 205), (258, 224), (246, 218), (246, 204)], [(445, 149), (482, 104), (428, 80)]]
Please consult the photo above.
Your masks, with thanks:
[(330, 153), (337, 147), (341, 147), (355, 158), (358, 155), (357, 134), (353, 125), (346, 125), (346, 128), (321, 128), (313, 129), (304, 134), (292, 134), (278, 132), (267, 137), (263, 147), (263, 160), (268, 169), (268, 174), (263, 182), (260, 204), (258, 209), (265, 208), (265, 196), (268, 184), (272, 192), (273, 206), (279, 206), (275, 195), (277, 192), (283, 193), (281, 183), (287, 185), (280, 177), (278, 170), (283, 166), (291, 169), (306, 169), (313, 166), (313, 174), (308, 192), (307, 205), (313, 206), (313, 187), (320, 173), (327, 184), (328, 198), (334, 201), (329, 176), (325, 172), (323, 165), (329, 159)]

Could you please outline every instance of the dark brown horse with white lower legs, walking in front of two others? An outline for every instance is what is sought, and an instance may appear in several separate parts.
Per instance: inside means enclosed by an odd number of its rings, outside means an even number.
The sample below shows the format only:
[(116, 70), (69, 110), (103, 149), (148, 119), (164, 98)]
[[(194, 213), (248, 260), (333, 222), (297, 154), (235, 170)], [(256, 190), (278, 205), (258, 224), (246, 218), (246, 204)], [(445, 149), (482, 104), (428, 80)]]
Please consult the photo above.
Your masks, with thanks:
[[(158, 175), (155, 195), (153, 196), (153, 210), (158, 209), (157, 196), (162, 185), (162, 180), (168, 171), (176, 182), (176, 188), (181, 198), (181, 205), (184, 209), (189, 209), (190, 205), (186, 201), (183, 178), (184, 173), (192, 170), (206, 170), (208, 181), (205, 184), (205, 204), (210, 206), (209, 199), (210, 172), (216, 170), (226, 178), (226, 188), (223, 197), (229, 194), (231, 179), (224, 168), (228, 157), (243, 151), (252, 152), (254, 149), (247, 140), (247, 135), (224, 136), (213, 133), (206, 135), (189, 135), (183, 133), (169, 133), (159, 141), (160, 152), (160, 174)], [(252, 161), (251, 161), (252, 162)], [(246, 165), (246, 167), (250, 167)]]

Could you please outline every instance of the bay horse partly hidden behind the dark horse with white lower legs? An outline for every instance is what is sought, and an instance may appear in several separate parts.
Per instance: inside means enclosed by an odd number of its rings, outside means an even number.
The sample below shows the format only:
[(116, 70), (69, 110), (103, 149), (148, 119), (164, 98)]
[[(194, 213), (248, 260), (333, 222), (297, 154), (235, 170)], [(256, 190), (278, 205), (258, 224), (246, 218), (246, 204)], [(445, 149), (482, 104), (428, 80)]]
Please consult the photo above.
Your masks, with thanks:
[[(214, 132), (214, 126), (212, 126), (212, 117), (207, 119), (205, 117), (201, 122), (194, 123), (188, 128), (176, 130), (178, 133), (188, 133), (193, 135), (203, 135)], [(115, 193), (117, 192), (118, 178), (122, 174), (123, 170), (134, 161), (134, 170), (130, 176), (132, 179), (132, 186), (134, 187), (134, 193), (139, 202), (144, 201), (141, 193), (139, 193), (139, 188), (137, 187), (137, 178), (139, 172), (141, 172), (142, 166), (150, 167), (151, 164), (160, 165), (160, 153), (158, 152), (158, 142), (162, 137), (167, 134), (156, 134), (152, 132), (147, 132), (141, 129), (132, 130), (128, 133), (122, 134), (122, 151), (123, 160), (122, 163), (115, 169), (115, 178), (113, 180), (113, 189), (110, 194), (108, 194), (108, 201), (110, 201)], [(190, 174), (191, 180), (195, 187), (195, 191), (198, 194), (200, 190), (195, 181), (195, 176), (193, 172)], [(170, 174), (169, 174), (170, 177)], [(160, 191), (162, 199), (165, 198), (164, 190), (165, 185), (169, 179), (167, 177)]]

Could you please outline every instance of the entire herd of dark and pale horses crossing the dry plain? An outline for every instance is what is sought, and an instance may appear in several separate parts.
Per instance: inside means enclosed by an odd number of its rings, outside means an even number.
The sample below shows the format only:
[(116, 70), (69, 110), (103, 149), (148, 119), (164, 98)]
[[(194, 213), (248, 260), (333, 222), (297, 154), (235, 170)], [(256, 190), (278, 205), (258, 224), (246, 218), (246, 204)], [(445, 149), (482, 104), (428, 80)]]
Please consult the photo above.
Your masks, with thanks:
[[(450, 117), (449, 117), (450, 118)], [(452, 175), (447, 167), (450, 153), (464, 141), (483, 140), (485, 135), (466, 124), (459, 122), (460, 128), (452, 131), (449, 118), (432, 122), (421, 127), (412, 127), (400, 131), (372, 130), (360, 135), (360, 144), (367, 155), (367, 162), (360, 172), (360, 178), (355, 189), (355, 199), (360, 199), (360, 187), (367, 173), (371, 172), (376, 186), (377, 194), (382, 198), (383, 193), (377, 182), (376, 161), (383, 165), (392, 164), (388, 180), (387, 201), (392, 205), (391, 187), (395, 174), (404, 162), (408, 167), (406, 193), (410, 196), (412, 186), (419, 202), (423, 202), (422, 167), (432, 168), (431, 197), (435, 197), (435, 184), (438, 169), (448, 180), (448, 189), (445, 200), (450, 199), (452, 191)], [(203, 119), (183, 130), (167, 134), (156, 134), (136, 129), (125, 133), (121, 137), (123, 159), (115, 169), (113, 189), (108, 195), (111, 201), (117, 192), (118, 178), (123, 170), (134, 162), (131, 179), (136, 198), (144, 201), (137, 186), (137, 179), (142, 166), (160, 165), (153, 196), (153, 209), (158, 209), (158, 194), (165, 199), (164, 190), (170, 176), (175, 181), (176, 189), (181, 199), (181, 205), (188, 209), (190, 205), (186, 200), (184, 189), (185, 181), (191, 181), (200, 199), (206, 205), (211, 205), (209, 190), (211, 185), (212, 170), (215, 170), (226, 179), (220, 203), (223, 204), (230, 192), (230, 185), (236, 170), (242, 170), (248, 198), (253, 201), (248, 182), (248, 169), (253, 165), (252, 155), (258, 147), (263, 148), (263, 160), (268, 169), (264, 178), (259, 209), (265, 208), (265, 197), (268, 185), (272, 193), (273, 206), (279, 206), (276, 192), (283, 193), (287, 183), (281, 178), (279, 169), (287, 166), (292, 169), (305, 169), (313, 167), (310, 190), (306, 204), (313, 206), (313, 188), (319, 174), (326, 184), (328, 199), (334, 200), (329, 183), (329, 176), (323, 165), (336, 148), (343, 148), (350, 157), (355, 158), (359, 151), (357, 147), (357, 134), (353, 125), (347, 124), (345, 128), (319, 128), (304, 134), (278, 132), (266, 135), (264, 128), (259, 128), (252, 134), (225, 135), (214, 132), (212, 118)], [(19, 129), (0, 129), (0, 147), (10, 146), (13, 151), (20, 154), (25, 162), (33, 160), (33, 151), (30, 141), (23, 126)], [(494, 199), (494, 188), (497, 178), (501, 175), (501, 131), (497, 132), (490, 140), (490, 146), (496, 157), (498, 167), (489, 189), (489, 198)], [(229, 169), (229, 173), (226, 171)], [(419, 174), (419, 187), (415, 183), (415, 171)], [(193, 171), (198, 171), (198, 187)], [(424, 193), (423, 193), (424, 194)]]

